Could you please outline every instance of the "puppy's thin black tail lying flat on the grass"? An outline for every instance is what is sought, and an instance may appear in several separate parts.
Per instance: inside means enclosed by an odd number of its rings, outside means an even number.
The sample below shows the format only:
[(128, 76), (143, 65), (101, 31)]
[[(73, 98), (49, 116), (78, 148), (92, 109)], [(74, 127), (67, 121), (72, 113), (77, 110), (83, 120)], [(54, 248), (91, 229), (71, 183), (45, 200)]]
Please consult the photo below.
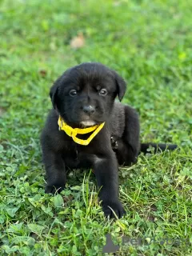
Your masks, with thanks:
[(158, 153), (158, 152), (162, 152), (165, 150), (175, 150), (178, 145), (176, 144), (162, 144), (162, 143), (142, 143), (141, 144), (141, 152), (143, 153), (147, 153), (148, 149), (150, 147), (154, 148), (154, 152)]

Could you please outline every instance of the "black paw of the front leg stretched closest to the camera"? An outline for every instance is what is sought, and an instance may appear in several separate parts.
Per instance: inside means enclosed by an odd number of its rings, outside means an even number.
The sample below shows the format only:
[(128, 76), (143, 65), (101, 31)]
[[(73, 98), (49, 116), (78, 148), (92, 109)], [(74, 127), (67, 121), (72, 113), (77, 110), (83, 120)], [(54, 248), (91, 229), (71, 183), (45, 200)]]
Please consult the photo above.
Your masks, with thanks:
[(116, 218), (115, 215), (117, 215), (118, 218), (122, 218), (122, 216), (126, 214), (126, 211), (123, 209), (120, 201), (102, 202), (102, 210), (106, 217), (109, 216), (110, 218)]

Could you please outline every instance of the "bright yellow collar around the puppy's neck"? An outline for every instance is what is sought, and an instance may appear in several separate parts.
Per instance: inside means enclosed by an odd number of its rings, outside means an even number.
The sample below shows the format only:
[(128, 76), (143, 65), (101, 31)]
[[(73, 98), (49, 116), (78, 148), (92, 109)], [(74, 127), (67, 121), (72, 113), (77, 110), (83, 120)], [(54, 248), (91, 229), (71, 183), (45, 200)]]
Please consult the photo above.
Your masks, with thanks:
[[(73, 138), (74, 142), (84, 146), (88, 145), (90, 141), (92, 141), (92, 139), (98, 134), (98, 132), (102, 130), (104, 124), (105, 122), (102, 122), (100, 125), (91, 126), (84, 129), (72, 128), (70, 126), (67, 126), (66, 122), (62, 120), (61, 116), (59, 116), (58, 118), (59, 130), (64, 130), (68, 136)], [(94, 131), (94, 133), (91, 134), (90, 137), (87, 139), (80, 139), (76, 137), (77, 134), (89, 134), (91, 131)]]

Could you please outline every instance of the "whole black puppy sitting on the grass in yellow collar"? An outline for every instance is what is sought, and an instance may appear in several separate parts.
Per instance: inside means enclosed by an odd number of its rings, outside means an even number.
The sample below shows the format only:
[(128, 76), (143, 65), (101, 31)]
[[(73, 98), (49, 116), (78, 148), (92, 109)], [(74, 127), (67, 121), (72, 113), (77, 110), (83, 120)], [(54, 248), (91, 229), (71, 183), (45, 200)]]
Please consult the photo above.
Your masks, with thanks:
[[(93, 168), (104, 213), (110, 218), (114, 213), (122, 217), (125, 211), (118, 198), (118, 164), (130, 166), (140, 150), (146, 151), (150, 145), (158, 149), (155, 144), (141, 146), (138, 114), (130, 106), (114, 102), (117, 95), (121, 101), (125, 92), (126, 82), (114, 70), (94, 62), (74, 66), (54, 82), (50, 90), (54, 109), (41, 137), (46, 193), (65, 188), (67, 167)], [(59, 130), (58, 125), (64, 128)], [(90, 142), (94, 131), (89, 129), (88, 134), (72, 136), (73, 129), (81, 131), (83, 127), (100, 130)], [(82, 145), (84, 142), (88, 145)], [(160, 147), (164, 150), (166, 145)]]

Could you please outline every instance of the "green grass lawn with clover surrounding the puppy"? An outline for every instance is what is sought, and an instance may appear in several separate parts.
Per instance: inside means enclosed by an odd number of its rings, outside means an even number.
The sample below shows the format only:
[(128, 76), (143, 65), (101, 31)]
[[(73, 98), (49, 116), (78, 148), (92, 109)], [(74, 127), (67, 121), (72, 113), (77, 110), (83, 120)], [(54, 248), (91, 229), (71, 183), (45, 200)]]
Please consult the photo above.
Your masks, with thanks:
[[(122, 236), (158, 240), (122, 244), (117, 255), (192, 254), (191, 8), (187, 0), (1, 1), (1, 255), (102, 255), (107, 233), (119, 245)], [(86, 44), (71, 49), (79, 33)], [(126, 79), (124, 102), (140, 114), (143, 142), (179, 145), (119, 171), (127, 214), (117, 222), (104, 218), (89, 170), (72, 170), (61, 195), (44, 194), (39, 135), (50, 86), (87, 61)]]

